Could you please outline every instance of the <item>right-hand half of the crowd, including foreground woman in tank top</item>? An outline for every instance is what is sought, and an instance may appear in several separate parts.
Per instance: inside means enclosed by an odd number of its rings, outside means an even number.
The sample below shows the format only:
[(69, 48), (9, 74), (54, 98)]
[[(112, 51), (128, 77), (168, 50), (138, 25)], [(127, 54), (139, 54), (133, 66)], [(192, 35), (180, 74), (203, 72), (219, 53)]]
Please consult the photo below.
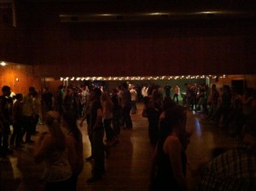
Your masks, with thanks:
[[(255, 90), (248, 88), (244, 96), (236, 89), (223, 85), (219, 93), (216, 85), (208, 90), (206, 84), (185, 84), (183, 106), (160, 86), (148, 88), (144, 99), (143, 117), (148, 118), (148, 137), (154, 145), (150, 190), (187, 190), (186, 148), (192, 132), (185, 130), (186, 112), (202, 113), (230, 136), (238, 136), (235, 148), (218, 149), (212, 161), (203, 169), (193, 171), (199, 180), (199, 190), (255, 190), (256, 172), (256, 100)], [(216, 125), (218, 127), (218, 125)]]

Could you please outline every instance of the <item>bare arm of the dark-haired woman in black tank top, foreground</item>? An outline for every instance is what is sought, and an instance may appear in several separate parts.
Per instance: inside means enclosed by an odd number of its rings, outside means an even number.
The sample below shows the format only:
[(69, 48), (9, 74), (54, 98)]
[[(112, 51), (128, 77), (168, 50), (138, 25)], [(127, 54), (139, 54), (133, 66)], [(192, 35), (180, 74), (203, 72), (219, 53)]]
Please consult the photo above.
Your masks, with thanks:
[[(166, 148), (166, 149), (165, 149)], [(175, 136), (168, 136), (164, 145), (165, 152), (168, 153), (172, 165), (173, 175), (183, 190), (187, 190), (187, 181), (183, 175), (182, 165), (182, 144)]]

